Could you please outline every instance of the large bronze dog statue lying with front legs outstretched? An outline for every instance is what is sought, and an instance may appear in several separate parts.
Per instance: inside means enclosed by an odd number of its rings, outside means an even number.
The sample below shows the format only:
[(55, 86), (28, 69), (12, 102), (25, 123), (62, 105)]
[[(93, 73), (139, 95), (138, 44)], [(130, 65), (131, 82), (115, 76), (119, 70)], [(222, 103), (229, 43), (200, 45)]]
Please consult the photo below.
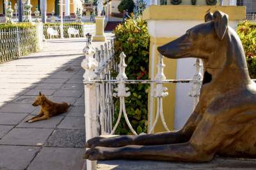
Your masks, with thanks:
[(207, 162), (214, 155), (256, 157), (256, 85), (250, 79), (239, 37), (228, 15), (216, 11), (205, 23), (158, 48), (167, 58), (200, 58), (204, 80), (200, 99), (178, 131), (94, 137), (86, 158)]

